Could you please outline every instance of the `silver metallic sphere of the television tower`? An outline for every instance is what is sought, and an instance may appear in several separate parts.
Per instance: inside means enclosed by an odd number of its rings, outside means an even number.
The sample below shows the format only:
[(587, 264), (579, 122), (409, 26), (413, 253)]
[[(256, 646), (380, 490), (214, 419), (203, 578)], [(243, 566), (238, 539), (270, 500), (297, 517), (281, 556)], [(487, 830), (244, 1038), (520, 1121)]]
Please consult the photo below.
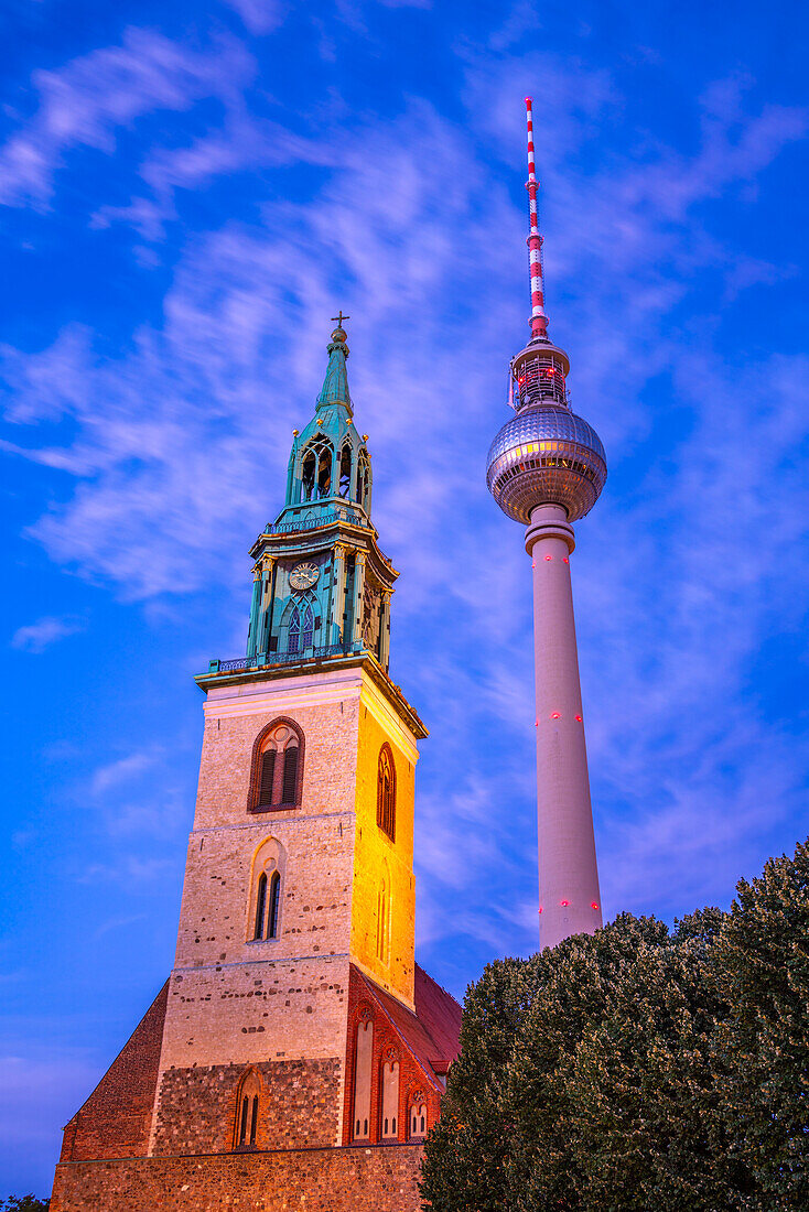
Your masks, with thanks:
[(528, 525), (536, 505), (559, 504), (575, 522), (589, 513), (606, 480), (602, 440), (566, 405), (520, 408), (495, 438), (486, 484), (509, 518)]

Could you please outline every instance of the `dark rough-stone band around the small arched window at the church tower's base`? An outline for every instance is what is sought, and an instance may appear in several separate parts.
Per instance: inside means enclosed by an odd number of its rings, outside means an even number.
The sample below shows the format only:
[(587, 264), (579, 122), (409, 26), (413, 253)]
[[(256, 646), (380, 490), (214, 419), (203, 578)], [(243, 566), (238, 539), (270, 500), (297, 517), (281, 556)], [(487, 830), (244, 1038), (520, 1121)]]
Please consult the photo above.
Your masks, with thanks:
[[(337, 1134), (341, 1062), (275, 1060), (261, 1076), (257, 1149), (331, 1145)], [(244, 1065), (170, 1069), (160, 1087), (153, 1153), (227, 1153), (235, 1142)]]

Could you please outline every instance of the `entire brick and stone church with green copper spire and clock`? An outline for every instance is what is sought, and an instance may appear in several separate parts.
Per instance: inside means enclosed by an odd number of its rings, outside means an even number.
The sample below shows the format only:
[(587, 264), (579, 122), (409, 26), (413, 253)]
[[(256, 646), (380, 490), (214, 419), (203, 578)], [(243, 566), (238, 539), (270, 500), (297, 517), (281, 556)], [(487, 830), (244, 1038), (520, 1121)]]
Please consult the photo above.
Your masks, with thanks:
[(55, 1212), (218, 1208), (234, 1183), (263, 1201), (245, 1207), (420, 1206), (460, 1007), (415, 962), (427, 731), (388, 675), (398, 572), (371, 521), (342, 321), (284, 508), (250, 553), (246, 654), (196, 679), (175, 965), (65, 1128)]

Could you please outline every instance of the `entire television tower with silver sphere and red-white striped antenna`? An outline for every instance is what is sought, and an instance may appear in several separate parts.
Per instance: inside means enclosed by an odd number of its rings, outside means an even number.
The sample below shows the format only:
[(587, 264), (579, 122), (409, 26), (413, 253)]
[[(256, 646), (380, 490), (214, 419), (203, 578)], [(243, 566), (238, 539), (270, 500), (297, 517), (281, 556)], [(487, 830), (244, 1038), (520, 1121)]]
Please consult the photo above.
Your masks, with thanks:
[(486, 482), (509, 518), (523, 522), (534, 571), (534, 668), (540, 844), (540, 943), (602, 926), (593, 810), (582, 722), (569, 556), (572, 522), (587, 514), (606, 480), (604, 447), (570, 410), (568, 355), (548, 337), (536, 194), (531, 98), (528, 110), (528, 196), (531, 338), (509, 370), (515, 416), (486, 461)]

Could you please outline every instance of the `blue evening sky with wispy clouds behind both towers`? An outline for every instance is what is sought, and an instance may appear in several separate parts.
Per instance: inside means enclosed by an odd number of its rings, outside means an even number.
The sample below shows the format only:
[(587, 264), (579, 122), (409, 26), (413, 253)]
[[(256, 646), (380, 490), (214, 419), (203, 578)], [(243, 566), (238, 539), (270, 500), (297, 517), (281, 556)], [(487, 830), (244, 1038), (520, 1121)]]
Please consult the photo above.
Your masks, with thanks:
[(571, 561), (602, 892), (728, 904), (809, 831), (805, 12), (6, 5), (0, 1196), (172, 960), (201, 734), (342, 307), (392, 674), (431, 728), (417, 945), (536, 944), (530, 570), (484, 481), (547, 310), (610, 478)]

